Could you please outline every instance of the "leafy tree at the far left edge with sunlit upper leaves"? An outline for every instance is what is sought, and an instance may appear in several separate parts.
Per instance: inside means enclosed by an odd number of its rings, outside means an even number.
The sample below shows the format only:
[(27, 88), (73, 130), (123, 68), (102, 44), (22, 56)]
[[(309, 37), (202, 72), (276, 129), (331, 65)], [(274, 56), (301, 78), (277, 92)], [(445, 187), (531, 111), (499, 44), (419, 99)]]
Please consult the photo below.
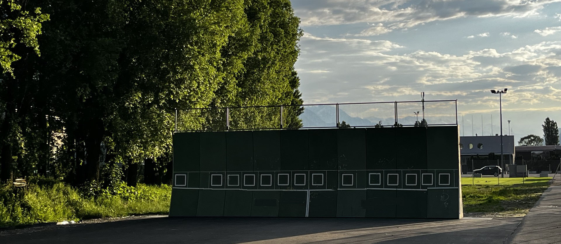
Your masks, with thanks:
[[(24, 159), (33, 160), (38, 150), (33, 149), (35, 135), (30, 123), (42, 105), (38, 97), (35, 58), (40, 55), (38, 35), (42, 22), (49, 15), (39, 7), (30, 7), (27, 1), (0, 0), (0, 181), (13, 178), (13, 159), (17, 168), (29, 171)], [(45, 138), (42, 138), (43, 142)], [(28, 148), (31, 146), (31, 148)], [(35, 145), (36, 146), (36, 145)], [(29, 162), (29, 161), (28, 161)]]

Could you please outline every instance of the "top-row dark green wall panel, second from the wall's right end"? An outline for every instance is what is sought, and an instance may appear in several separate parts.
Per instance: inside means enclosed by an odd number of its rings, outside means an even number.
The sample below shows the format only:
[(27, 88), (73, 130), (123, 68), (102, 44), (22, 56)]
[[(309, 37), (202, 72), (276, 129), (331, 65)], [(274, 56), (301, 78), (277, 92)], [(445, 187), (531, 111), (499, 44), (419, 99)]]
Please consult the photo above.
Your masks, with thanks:
[(426, 169), (426, 126), (396, 130), (397, 169)]

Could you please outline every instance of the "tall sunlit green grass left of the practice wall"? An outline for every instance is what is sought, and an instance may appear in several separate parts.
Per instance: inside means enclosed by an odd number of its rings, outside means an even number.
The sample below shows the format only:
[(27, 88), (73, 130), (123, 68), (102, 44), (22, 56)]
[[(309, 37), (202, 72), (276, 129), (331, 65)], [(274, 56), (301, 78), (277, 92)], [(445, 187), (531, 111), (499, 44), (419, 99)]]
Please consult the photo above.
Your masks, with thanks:
[(171, 187), (167, 185), (119, 189), (117, 194), (88, 197), (60, 182), (17, 189), (4, 186), (0, 188), (0, 227), (169, 212)]

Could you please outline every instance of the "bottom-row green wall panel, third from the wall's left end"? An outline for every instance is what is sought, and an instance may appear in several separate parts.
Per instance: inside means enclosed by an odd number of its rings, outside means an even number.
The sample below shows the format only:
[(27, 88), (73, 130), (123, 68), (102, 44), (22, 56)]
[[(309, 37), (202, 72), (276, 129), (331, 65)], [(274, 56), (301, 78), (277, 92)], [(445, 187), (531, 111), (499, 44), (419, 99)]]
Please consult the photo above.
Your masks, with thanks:
[(224, 216), (251, 216), (252, 191), (228, 190), (224, 202)]

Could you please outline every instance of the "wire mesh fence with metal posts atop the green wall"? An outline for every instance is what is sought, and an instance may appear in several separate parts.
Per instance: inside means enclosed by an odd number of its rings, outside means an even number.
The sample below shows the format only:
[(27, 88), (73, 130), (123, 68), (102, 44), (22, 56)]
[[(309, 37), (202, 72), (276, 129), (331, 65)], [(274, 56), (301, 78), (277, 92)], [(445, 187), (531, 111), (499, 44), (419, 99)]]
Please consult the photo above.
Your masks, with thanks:
[(457, 100), (216, 107), (175, 114), (176, 131), (457, 124)]

